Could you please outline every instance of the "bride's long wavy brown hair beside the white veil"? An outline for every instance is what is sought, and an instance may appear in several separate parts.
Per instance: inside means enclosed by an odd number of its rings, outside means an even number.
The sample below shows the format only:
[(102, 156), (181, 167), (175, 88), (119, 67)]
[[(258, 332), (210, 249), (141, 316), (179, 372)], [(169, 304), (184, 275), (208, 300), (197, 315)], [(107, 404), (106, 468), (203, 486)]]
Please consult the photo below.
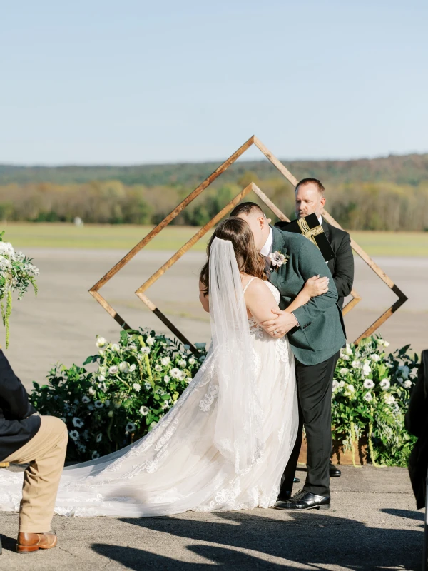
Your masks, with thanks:
[(210, 288), (210, 248), (214, 238), (229, 240), (235, 251), (236, 261), (240, 272), (248, 273), (262, 280), (267, 280), (265, 273), (265, 258), (255, 247), (253, 232), (242, 218), (231, 216), (221, 222), (207, 246), (208, 260), (200, 271), (200, 282), (203, 284), (203, 294), (208, 295)]

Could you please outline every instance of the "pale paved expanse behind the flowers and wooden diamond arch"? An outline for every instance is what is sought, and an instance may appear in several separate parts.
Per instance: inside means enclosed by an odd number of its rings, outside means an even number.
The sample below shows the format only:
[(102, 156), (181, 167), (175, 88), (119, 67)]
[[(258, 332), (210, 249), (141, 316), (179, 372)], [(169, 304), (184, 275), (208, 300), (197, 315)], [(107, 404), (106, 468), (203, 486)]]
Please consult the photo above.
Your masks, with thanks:
[[(126, 252), (61, 249), (28, 252), (41, 270), (39, 296), (35, 299), (30, 292), (24, 300), (14, 303), (7, 355), (30, 388), (32, 380), (44, 380), (56, 361), (66, 365), (83, 363), (95, 351), (97, 334), (117, 340), (116, 321), (89, 295), (88, 289)], [(101, 290), (131, 326), (165, 330), (134, 291), (170, 255), (171, 252), (165, 251), (139, 253)], [(202, 252), (187, 253), (147, 292), (193, 342), (210, 338), (209, 318), (198, 301), (198, 273), (204, 260)], [(417, 352), (427, 348), (428, 259), (377, 258), (376, 261), (409, 297), (382, 326), (382, 335), (392, 348), (407, 343)], [(355, 289), (363, 300), (345, 318), (349, 340), (357, 338), (396, 299), (360, 258), (356, 258)], [(1, 340), (0, 343), (4, 346)]]

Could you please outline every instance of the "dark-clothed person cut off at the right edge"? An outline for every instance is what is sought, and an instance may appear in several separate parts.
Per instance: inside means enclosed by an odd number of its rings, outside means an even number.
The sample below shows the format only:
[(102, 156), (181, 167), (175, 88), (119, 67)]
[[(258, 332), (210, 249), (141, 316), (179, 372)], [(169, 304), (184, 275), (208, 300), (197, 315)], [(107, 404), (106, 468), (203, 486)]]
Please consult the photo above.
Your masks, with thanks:
[(405, 423), (409, 433), (417, 436), (417, 443), (409, 457), (409, 475), (416, 507), (420, 510), (426, 501), (428, 469), (428, 350), (422, 351), (421, 366), (410, 396)]

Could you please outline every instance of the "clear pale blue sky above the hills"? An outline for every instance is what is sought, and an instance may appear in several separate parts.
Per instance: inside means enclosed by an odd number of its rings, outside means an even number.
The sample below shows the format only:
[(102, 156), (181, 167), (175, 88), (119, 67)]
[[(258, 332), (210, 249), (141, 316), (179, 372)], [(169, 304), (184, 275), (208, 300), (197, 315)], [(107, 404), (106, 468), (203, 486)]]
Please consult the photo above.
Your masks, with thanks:
[[(8, 2), (0, 163), (428, 151), (426, 0)], [(260, 156), (253, 152), (251, 156)]]

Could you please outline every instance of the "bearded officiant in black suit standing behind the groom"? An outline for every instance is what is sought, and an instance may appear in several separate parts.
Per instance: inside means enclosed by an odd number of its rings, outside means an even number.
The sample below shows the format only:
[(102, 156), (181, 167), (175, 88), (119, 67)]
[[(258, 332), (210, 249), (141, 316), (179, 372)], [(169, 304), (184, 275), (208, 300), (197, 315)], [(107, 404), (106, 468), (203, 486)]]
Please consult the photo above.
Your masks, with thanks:
[[(303, 178), (295, 188), (295, 209), (297, 218), (316, 214), (327, 240), (332, 246), (335, 258), (327, 262), (337, 289), (337, 305), (343, 309), (343, 300), (350, 295), (354, 282), (354, 256), (350, 235), (336, 228), (321, 216), (325, 206), (325, 188), (317, 178)], [(330, 460), (330, 477), (340, 477), (339, 468)]]

